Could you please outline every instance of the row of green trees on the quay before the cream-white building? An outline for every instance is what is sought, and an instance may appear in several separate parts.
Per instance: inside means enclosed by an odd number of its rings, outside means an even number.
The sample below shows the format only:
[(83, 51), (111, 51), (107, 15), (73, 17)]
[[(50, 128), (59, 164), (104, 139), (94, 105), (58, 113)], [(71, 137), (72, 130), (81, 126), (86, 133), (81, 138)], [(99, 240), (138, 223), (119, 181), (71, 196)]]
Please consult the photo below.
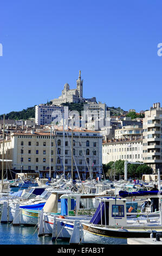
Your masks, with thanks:
[[(111, 161), (107, 164), (102, 164), (103, 172), (106, 178), (111, 178), (115, 175), (117, 179), (124, 176), (124, 160)], [(142, 178), (142, 174), (152, 174), (152, 168), (147, 164), (127, 164), (127, 176), (131, 178)]]

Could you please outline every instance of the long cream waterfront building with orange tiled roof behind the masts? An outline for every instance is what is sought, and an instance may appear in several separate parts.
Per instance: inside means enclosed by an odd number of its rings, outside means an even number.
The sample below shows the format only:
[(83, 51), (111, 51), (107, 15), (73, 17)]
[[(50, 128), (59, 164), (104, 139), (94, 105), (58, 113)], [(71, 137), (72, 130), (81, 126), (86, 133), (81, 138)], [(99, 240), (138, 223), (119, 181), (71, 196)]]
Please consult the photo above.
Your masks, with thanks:
[[(64, 147), (63, 147), (64, 140)], [(2, 159), (2, 139), (0, 141), (0, 154)], [(10, 169), (15, 172), (40, 172), (49, 174), (50, 159), (51, 173), (62, 174), (63, 166), (66, 175), (72, 172), (72, 130), (64, 132), (62, 127), (55, 127), (51, 135), (50, 130), (11, 133), (4, 142), (4, 158), (12, 160)], [(63, 157), (64, 155), (64, 157)], [(102, 166), (102, 136), (99, 132), (88, 130), (73, 131), (73, 161), (74, 177), (78, 172), (82, 175), (98, 176)], [(64, 161), (64, 162), (63, 162)], [(76, 165), (75, 165), (76, 163)], [(2, 164), (1, 164), (2, 169)], [(90, 173), (90, 174), (89, 174)]]

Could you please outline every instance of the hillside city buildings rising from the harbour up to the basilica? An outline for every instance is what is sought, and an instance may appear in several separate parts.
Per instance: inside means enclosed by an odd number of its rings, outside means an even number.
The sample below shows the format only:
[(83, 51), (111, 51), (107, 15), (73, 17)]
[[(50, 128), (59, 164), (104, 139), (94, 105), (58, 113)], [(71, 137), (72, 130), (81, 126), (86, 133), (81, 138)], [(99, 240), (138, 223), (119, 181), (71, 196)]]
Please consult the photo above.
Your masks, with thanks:
[(5, 159), (12, 160), (6, 169), (46, 178), (49, 169), (54, 176), (70, 175), (72, 168), (75, 178), (98, 177), (102, 164), (118, 160), (142, 162), (155, 174), (162, 171), (162, 108), (157, 102), (136, 113), (108, 107), (95, 95), (83, 97), (79, 71), (76, 89), (64, 84), (58, 99), (35, 106), (35, 117), (3, 120), (1, 115), (1, 159), (3, 150)]

